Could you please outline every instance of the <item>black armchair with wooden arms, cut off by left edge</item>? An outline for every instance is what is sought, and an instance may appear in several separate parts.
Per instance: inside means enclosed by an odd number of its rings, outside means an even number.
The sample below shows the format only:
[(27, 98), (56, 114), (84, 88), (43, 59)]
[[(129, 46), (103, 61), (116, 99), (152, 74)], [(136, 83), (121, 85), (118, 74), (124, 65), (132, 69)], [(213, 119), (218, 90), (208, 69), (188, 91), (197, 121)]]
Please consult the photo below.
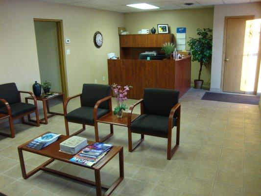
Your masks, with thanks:
[[(34, 105), (30, 103), (21, 102), (21, 93), (30, 94), (33, 97)], [(25, 122), (24, 116), (35, 113), (36, 123)], [(11, 130), (11, 135), (0, 133), (11, 138), (15, 137), (15, 131), (13, 126), (13, 120), (22, 119), (22, 123), (30, 124), (35, 126), (40, 126), (39, 114), (37, 108), (37, 100), (31, 92), (18, 91), (15, 83), (7, 83), (0, 85), (0, 114), (1, 116), (6, 116), (9, 118), (9, 125)]]

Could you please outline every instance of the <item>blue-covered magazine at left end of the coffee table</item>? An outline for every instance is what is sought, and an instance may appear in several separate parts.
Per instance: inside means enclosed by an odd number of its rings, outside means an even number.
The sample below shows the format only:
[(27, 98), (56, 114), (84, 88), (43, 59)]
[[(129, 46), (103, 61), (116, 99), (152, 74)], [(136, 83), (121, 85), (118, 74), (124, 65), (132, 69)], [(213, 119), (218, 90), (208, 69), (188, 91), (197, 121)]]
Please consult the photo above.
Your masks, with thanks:
[(59, 138), (60, 135), (61, 134), (47, 133), (39, 138), (34, 139), (29, 144), (27, 144), (26, 147), (40, 150), (40, 149), (47, 147), (48, 145), (54, 143)]

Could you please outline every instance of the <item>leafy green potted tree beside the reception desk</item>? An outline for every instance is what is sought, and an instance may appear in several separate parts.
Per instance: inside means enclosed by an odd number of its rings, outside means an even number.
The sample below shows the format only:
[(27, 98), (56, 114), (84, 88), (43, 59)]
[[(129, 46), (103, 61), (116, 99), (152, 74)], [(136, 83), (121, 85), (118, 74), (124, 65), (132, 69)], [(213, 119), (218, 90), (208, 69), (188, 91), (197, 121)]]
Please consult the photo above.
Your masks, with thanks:
[(200, 69), (198, 73), (198, 79), (194, 80), (194, 86), (196, 89), (201, 89), (204, 80), (200, 79), (202, 67), (211, 65), (212, 57), (212, 29), (203, 28), (197, 29), (198, 38), (191, 38), (188, 41), (190, 47), (192, 61), (197, 61), (200, 63)]

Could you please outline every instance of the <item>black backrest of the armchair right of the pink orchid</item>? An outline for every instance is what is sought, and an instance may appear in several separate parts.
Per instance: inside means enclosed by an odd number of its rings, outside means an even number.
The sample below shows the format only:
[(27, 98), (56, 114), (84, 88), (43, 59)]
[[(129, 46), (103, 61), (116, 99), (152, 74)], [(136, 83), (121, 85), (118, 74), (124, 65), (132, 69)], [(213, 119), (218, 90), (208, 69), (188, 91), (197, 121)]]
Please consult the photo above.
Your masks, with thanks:
[[(178, 102), (179, 91), (146, 88), (143, 96), (143, 113), (169, 116), (171, 108)], [(177, 117), (176, 113), (175, 117)]]

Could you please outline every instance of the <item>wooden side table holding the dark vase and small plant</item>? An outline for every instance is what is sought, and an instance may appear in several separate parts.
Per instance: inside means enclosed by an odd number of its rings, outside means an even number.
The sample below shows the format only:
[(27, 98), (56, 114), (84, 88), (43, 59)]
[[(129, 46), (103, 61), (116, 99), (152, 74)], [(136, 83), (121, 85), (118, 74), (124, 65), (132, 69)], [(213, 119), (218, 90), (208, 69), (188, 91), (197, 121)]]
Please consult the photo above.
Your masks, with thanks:
[[(53, 116), (55, 116), (55, 115), (64, 116), (63, 113), (51, 112), (51, 111), (50, 111), (50, 108), (49, 108), (49, 100), (52, 99), (52, 98), (57, 98), (57, 97), (62, 97), (62, 98), (63, 98), (63, 105), (64, 105), (64, 102), (65, 102), (64, 93), (58, 93), (58, 95), (53, 96), (53, 97), (50, 97), (50, 98), (42, 98), (42, 97), (40, 97), (40, 96), (39, 96), (39, 97), (36, 97), (36, 100), (43, 102), (44, 118), (43, 118), (43, 119), (40, 119), (40, 123), (42, 123), (42, 124), (47, 124), (47, 123), (48, 123), (48, 118), (53, 117)], [(26, 98), (25, 98), (25, 102), (26, 102), (26, 103), (28, 103), (28, 99), (33, 99), (33, 98), (32, 98), (32, 97), (26, 97)], [(50, 114), (50, 115), (47, 116), (47, 114)], [(28, 121), (35, 122), (35, 120), (32, 120), (29, 115), (28, 115), (27, 117), (28, 117)]]

